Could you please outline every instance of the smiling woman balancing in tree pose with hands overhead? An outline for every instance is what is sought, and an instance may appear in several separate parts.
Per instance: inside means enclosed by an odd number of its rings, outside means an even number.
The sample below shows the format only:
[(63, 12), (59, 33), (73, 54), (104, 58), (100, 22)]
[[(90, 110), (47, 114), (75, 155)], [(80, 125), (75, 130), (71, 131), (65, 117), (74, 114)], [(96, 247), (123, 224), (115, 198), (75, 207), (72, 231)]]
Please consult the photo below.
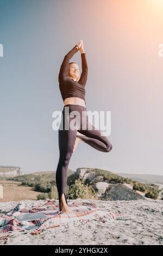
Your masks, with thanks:
[[(80, 51), (82, 58), (82, 74), (80, 76), (79, 66), (77, 63), (71, 62), (70, 59), (77, 51)], [(91, 147), (103, 151), (110, 152), (112, 144), (102, 135), (100, 130), (95, 130), (95, 127), (89, 123), (86, 101), (85, 101), (85, 85), (87, 81), (87, 62), (86, 54), (84, 52), (83, 40), (80, 40), (70, 52), (66, 54), (61, 64), (59, 71), (59, 88), (64, 101), (64, 108), (62, 110), (62, 120), (60, 123), (58, 139), (59, 139), (59, 162), (56, 171), (56, 184), (59, 195), (59, 213), (72, 212), (68, 208), (66, 199), (66, 183), (67, 183), (67, 169), (71, 159), (72, 153), (76, 150), (78, 143), (85, 142)], [(65, 109), (68, 108), (68, 114)], [(77, 111), (74, 117), (72, 111)], [(74, 112), (73, 112), (74, 113)], [(83, 115), (82, 115), (83, 113)], [(70, 123), (76, 119), (76, 129), (70, 128)], [(68, 124), (68, 130), (65, 129), (65, 120)], [(62, 126), (61, 126), (62, 125)], [(82, 130), (83, 125), (86, 128)]]

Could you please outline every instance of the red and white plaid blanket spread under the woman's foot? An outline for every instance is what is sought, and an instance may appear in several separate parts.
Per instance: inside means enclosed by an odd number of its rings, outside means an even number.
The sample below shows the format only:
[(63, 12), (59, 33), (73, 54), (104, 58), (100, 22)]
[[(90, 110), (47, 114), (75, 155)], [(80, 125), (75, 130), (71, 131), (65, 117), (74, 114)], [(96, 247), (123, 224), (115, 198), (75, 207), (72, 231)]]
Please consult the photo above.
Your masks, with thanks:
[(106, 222), (110, 220), (130, 220), (132, 217), (122, 211), (111, 211), (111, 209), (103, 210), (98, 207), (96, 200), (77, 199), (73, 202), (68, 202), (68, 206), (72, 212), (69, 214), (59, 214), (58, 200), (46, 199), (38, 201), (38, 203), (18, 202), (14, 209), (10, 210), (6, 215), (0, 217), (0, 240), (5, 237), (12, 236), (13, 231), (26, 231), (27, 229), (21, 225), (21, 222), (16, 219), (18, 214), (41, 212), (46, 218), (29, 221), (29, 226), (35, 226), (33, 230), (28, 230), (30, 234), (36, 235), (48, 228), (58, 227), (59, 225), (79, 221), (82, 223), (91, 220)]

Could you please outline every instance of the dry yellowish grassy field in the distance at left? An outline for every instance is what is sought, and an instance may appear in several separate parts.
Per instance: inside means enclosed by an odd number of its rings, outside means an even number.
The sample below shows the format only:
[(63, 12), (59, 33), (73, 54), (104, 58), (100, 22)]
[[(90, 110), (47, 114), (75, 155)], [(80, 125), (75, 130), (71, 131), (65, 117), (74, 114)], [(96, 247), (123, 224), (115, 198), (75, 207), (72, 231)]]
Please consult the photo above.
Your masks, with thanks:
[(0, 202), (36, 200), (37, 194), (41, 194), (34, 191), (34, 187), (20, 186), (21, 182), (17, 181), (0, 180), (0, 185), (3, 185), (3, 199)]

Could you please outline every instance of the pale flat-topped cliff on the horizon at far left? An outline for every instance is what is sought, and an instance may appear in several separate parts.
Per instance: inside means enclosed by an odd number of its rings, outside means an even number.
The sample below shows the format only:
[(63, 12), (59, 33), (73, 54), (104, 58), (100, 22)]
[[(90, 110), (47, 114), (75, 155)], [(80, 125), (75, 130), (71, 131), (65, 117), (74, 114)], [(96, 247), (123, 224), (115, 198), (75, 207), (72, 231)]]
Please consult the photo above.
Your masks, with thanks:
[(17, 166), (0, 166), (0, 176), (10, 178), (18, 175), (23, 175), (21, 167)]

